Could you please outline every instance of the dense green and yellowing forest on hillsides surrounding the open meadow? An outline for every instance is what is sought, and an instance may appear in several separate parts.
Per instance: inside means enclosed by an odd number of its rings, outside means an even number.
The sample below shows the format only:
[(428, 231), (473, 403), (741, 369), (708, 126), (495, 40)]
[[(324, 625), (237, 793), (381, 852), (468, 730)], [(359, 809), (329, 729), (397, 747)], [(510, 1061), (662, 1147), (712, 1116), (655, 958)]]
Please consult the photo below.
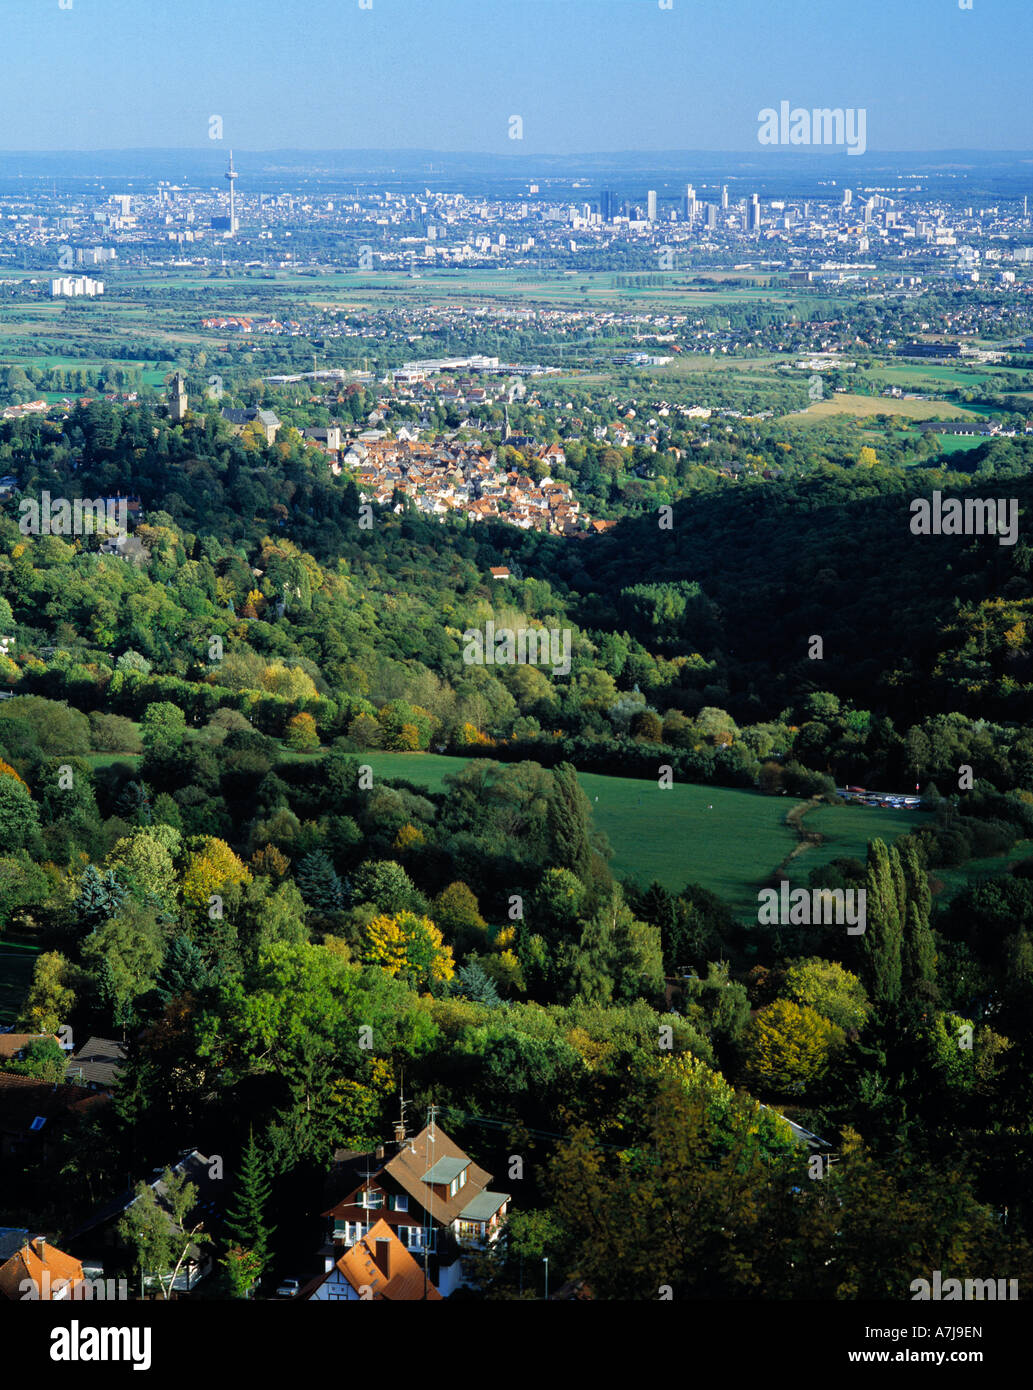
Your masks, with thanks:
[[(815, 445), (560, 539), (400, 502), (363, 528), (291, 424), (266, 448), (96, 402), (0, 427), (0, 940), (40, 947), (25, 1029), (132, 1040), (114, 1104), (6, 1175), (0, 1223), (70, 1229), (120, 1175), (252, 1129), (288, 1211), (405, 1079), (496, 1170), (530, 1158), (488, 1297), (546, 1247), (601, 1297), (656, 1297), (658, 1261), (706, 1297), (902, 1298), (962, 1257), (1030, 1277), (1033, 876), (943, 906), (930, 876), (1033, 838), (1032, 449), (959, 471)], [(1018, 543), (912, 535), (933, 489), (1015, 498)], [(44, 491), (139, 499), (138, 555), (24, 534)], [(469, 664), (489, 620), (569, 630), (570, 673)], [(370, 749), (470, 762), (430, 792)], [(829, 802), (919, 783), (934, 815), (813, 872), (865, 890), (862, 937), (772, 931), (616, 881), (576, 769)], [(17, 1065), (57, 1079), (60, 1054)], [(834, 1144), (830, 1176), (780, 1113)]]

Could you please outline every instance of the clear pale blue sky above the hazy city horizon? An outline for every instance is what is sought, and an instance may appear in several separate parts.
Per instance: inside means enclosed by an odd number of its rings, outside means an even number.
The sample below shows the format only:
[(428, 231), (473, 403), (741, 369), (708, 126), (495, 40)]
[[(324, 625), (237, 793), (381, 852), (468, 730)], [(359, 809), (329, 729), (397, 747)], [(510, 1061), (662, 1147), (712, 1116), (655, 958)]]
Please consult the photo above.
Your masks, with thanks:
[(755, 150), (783, 99), (863, 107), (869, 150), (1033, 149), (1033, 0), (64, 3), (3, 6), (6, 150), (211, 115), (241, 150)]

